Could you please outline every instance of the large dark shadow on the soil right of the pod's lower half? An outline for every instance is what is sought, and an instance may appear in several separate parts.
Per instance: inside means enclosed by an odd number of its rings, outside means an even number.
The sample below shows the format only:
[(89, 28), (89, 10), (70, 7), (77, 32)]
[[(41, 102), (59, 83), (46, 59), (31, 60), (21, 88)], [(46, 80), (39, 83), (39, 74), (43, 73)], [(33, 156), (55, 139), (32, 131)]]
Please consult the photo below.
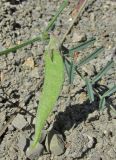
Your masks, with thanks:
[(80, 123), (85, 122), (88, 115), (97, 108), (98, 103), (90, 103), (89, 100), (83, 104), (75, 104), (66, 107), (64, 112), (59, 112), (55, 117), (53, 128), (64, 135), (65, 131), (69, 131), (72, 127), (76, 128)]

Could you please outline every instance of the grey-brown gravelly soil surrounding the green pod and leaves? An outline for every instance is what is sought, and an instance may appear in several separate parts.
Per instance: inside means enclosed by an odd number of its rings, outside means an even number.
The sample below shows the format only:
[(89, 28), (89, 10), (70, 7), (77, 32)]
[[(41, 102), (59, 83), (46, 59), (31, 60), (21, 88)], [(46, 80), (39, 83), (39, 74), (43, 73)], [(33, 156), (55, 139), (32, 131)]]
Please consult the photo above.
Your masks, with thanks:
[[(1, 0), (0, 1), (0, 50), (20, 44), (37, 36), (47, 26), (62, 0)], [(71, 23), (71, 11), (77, 0), (58, 18), (55, 32), (63, 35)], [(94, 76), (106, 63), (115, 59), (116, 52), (116, 1), (96, 0), (89, 5), (78, 24), (75, 24), (65, 41), (66, 47), (75, 42), (95, 36), (93, 48), (103, 45), (105, 52), (82, 67), (83, 73)], [(0, 132), (17, 107), (19, 112), (0, 137), (0, 160), (25, 160), (26, 151), (33, 134), (35, 113), (43, 82), (43, 51), (45, 44), (34, 43), (16, 53), (0, 57)], [(79, 59), (89, 54), (92, 48), (80, 53)], [(112, 68), (99, 83), (112, 87), (116, 83), (116, 68)], [(48, 118), (46, 129), (54, 128), (51, 154), (41, 145), (35, 159), (39, 160), (115, 160), (116, 159), (116, 114), (108, 108), (100, 113), (98, 98), (90, 104), (84, 83), (75, 77), (69, 100), (68, 81), (65, 78), (62, 93), (53, 114)], [(109, 101), (109, 99), (108, 99)], [(116, 94), (110, 97), (116, 105)], [(57, 134), (58, 133), (58, 134)], [(60, 140), (58, 141), (58, 135)], [(65, 150), (64, 150), (65, 148)], [(41, 157), (37, 154), (44, 149)], [(58, 156), (61, 154), (60, 156)], [(31, 158), (33, 159), (33, 158)]]

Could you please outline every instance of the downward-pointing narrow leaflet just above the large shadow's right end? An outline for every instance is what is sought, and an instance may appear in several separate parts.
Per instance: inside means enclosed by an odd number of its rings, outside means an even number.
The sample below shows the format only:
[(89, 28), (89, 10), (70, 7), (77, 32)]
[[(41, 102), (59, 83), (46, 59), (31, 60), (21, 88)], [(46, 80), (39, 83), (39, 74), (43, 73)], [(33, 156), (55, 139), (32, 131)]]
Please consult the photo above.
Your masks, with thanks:
[(93, 92), (92, 84), (88, 78), (86, 78), (85, 82), (87, 85), (87, 92), (88, 92), (89, 100), (90, 100), (90, 102), (93, 102), (94, 101), (94, 92)]

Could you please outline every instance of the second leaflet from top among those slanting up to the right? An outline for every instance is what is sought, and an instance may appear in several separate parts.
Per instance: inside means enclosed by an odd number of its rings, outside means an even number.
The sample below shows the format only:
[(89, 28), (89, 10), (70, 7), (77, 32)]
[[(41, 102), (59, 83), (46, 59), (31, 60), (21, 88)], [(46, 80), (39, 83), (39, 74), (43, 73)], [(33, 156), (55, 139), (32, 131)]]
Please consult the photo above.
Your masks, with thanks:
[(79, 68), (80, 66), (89, 63), (92, 59), (96, 58), (98, 56), (98, 54), (100, 54), (102, 51), (104, 50), (103, 47), (101, 48), (97, 48), (92, 54), (86, 56), (85, 58), (83, 58), (82, 60), (80, 60), (80, 62), (77, 64), (77, 68)]

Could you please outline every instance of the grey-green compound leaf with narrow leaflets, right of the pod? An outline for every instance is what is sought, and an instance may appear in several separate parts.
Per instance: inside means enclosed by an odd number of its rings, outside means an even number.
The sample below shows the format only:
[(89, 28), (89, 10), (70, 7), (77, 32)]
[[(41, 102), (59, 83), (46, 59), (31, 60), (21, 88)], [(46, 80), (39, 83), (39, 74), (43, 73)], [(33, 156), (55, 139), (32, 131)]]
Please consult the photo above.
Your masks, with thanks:
[[(95, 39), (88, 40), (87, 42), (78, 45), (74, 48), (69, 49), (68, 54), (72, 55), (74, 52), (72, 51), (82, 51), (85, 49), (85, 47), (88, 47), (89, 45), (92, 45)], [(87, 63), (89, 63), (91, 60), (96, 58), (99, 54), (101, 54), (104, 51), (103, 47), (97, 48), (93, 53), (90, 55), (84, 57), (81, 59), (78, 64), (74, 64), (74, 61), (69, 61), (65, 59), (65, 67), (66, 71), (69, 77), (69, 83), (72, 84), (75, 76), (75, 72), (83, 79), (85, 82), (85, 87), (87, 88), (88, 98), (90, 102), (94, 101), (95, 94), (99, 97), (99, 109), (102, 111), (106, 106), (106, 98), (109, 97), (111, 94), (116, 92), (116, 85), (114, 85), (112, 88), (109, 88), (108, 91), (106, 91), (103, 95), (100, 95), (100, 93), (94, 88), (95, 84), (102, 78), (103, 75), (105, 75), (114, 65), (114, 61), (109, 61), (106, 66), (92, 79), (88, 77), (82, 76), (82, 74), (79, 72), (79, 68)], [(73, 66), (73, 67), (72, 67)]]

